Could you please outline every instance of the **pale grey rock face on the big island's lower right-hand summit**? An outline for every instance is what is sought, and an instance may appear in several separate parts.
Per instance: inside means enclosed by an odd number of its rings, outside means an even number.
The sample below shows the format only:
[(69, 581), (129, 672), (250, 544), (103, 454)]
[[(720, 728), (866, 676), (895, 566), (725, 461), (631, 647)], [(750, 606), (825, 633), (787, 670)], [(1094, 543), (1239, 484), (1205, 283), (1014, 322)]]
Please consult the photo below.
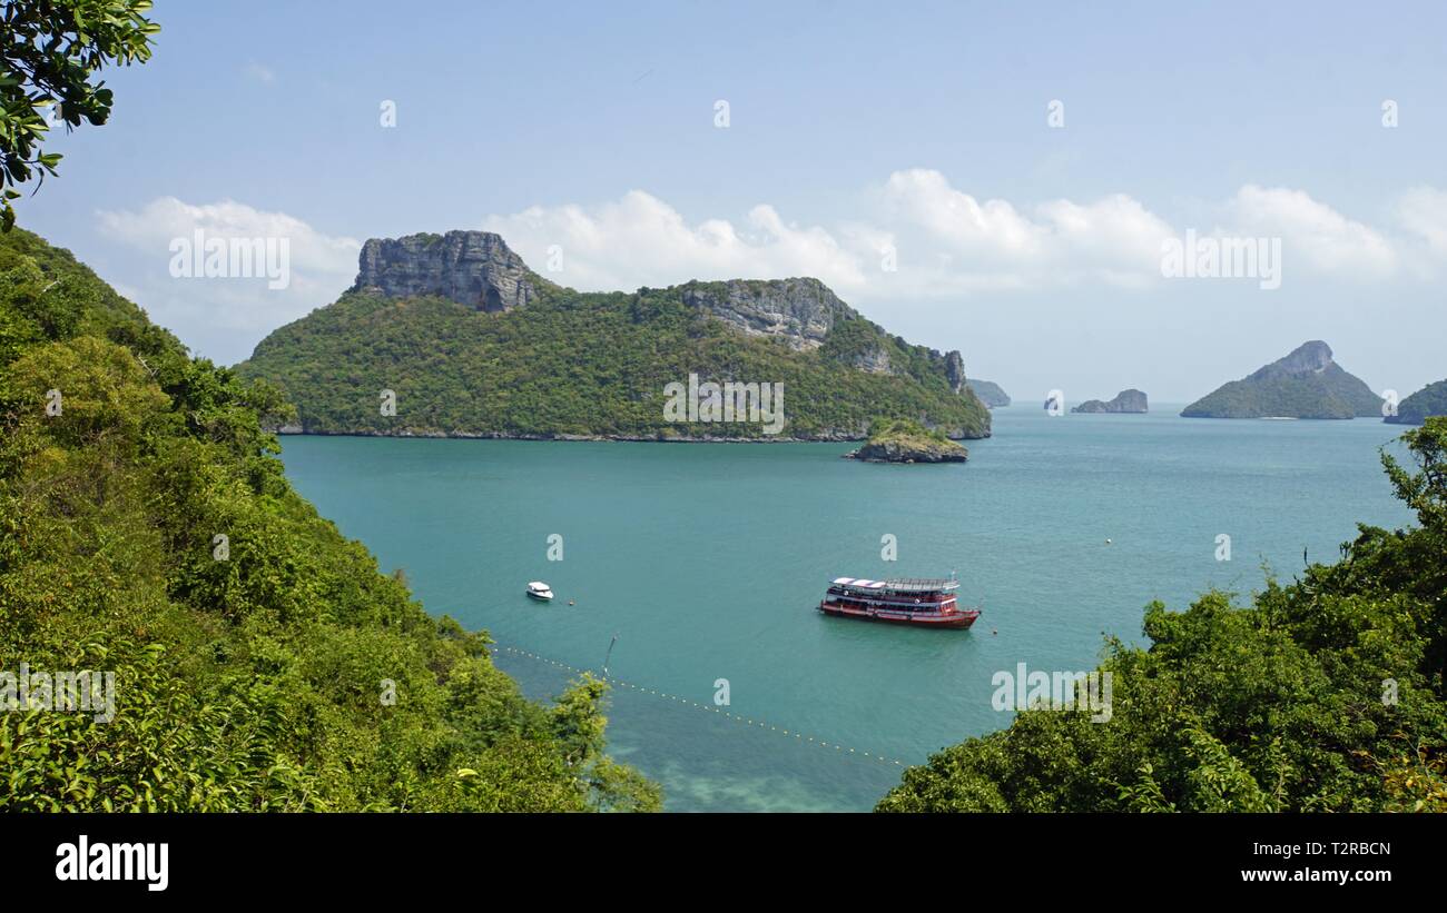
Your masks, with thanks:
[(800, 351), (823, 345), (835, 321), (860, 316), (818, 279), (690, 282), (679, 292), (690, 308), (748, 335), (781, 337)]

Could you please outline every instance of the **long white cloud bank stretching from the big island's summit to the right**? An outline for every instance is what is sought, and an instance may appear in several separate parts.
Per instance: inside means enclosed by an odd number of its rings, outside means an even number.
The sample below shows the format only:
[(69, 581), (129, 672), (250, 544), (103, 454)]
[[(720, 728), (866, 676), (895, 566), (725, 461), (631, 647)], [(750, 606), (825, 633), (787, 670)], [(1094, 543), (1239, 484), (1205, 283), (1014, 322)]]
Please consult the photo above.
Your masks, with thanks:
[[(807, 274), (860, 300), (1079, 283), (1149, 287), (1162, 280), (1165, 240), (1197, 228), (1172, 225), (1126, 194), (1040, 204), (980, 199), (930, 169), (894, 172), (860, 192), (857, 204), (857, 218), (832, 227), (790, 222), (767, 204), (735, 225), (690, 222), (657, 196), (631, 191), (612, 202), (532, 207), (482, 224), (535, 266), (560, 246), (564, 270), (554, 279), (579, 289)], [(1420, 191), (1409, 204), (1409, 227), (1447, 244), (1437, 198)], [(1302, 191), (1247, 185), (1214, 211), (1220, 224), (1200, 227), (1200, 235), (1281, 237), (1291, 276), (1379, 280), (1402, 263), (1399, 238)], [(881, 267), (886, 247), (896, 251), (896, 272)]]

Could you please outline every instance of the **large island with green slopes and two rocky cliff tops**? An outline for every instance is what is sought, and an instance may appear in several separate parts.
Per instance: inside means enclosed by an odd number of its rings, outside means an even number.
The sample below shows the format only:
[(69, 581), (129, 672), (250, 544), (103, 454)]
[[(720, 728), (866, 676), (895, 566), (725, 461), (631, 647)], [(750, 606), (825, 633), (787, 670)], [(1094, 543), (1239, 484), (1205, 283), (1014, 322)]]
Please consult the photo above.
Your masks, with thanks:
[[(958, 351), (890, 335), (818, 279), (576, 292), (485, 231), (368, 241), (353, 287), (236, 373), (297, 406), (284, 433), (861, 441), (883, 416), (990, 435)], [(764, 394), (777, 415), (745, 409)]]

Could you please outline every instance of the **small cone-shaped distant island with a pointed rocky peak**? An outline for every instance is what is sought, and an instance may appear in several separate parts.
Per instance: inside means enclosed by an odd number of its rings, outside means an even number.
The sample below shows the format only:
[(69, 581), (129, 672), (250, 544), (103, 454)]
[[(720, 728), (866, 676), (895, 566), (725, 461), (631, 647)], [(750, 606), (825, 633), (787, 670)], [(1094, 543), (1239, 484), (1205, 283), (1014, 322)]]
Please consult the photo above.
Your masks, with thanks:
[(1380, 416), (1382, 397), (1331, 360), (1331, 347), (1304, 342), (1181, 412), (1188, 419), (1351, 419)]

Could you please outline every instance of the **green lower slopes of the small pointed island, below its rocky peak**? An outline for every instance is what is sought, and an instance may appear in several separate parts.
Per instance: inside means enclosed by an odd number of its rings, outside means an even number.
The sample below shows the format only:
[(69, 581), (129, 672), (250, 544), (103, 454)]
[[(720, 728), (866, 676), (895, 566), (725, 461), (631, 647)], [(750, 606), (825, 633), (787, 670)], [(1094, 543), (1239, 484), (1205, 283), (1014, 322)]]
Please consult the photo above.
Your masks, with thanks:
[(1181, 415), (1201, 419), (1351, 419), (1380, 416), (1382, 397), (1333, 364), (1320, 374), (1233, 380), (1191, 403)]

